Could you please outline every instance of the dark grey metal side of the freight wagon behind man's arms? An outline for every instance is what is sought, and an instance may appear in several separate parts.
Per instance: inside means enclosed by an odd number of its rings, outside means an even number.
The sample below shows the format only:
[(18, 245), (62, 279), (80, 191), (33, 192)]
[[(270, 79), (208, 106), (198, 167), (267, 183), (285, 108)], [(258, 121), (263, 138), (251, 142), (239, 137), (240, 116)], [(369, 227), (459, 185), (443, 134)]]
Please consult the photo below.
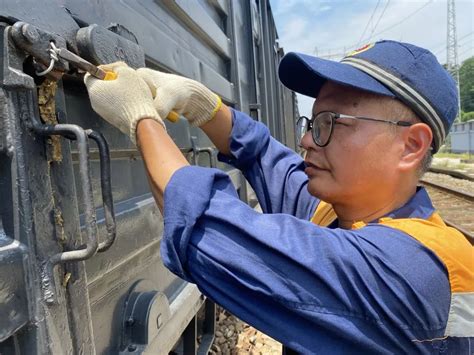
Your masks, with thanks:
[[(11, 42), (9, 26), (17, 21), (60, 36), (76, 52), (80, 28), (108, 28), (111, 35), (138, 43), (146, 66), (201, 81), (295, 149), (295, 96), (277, 79), (283, 51), (268, 1), (0, 0), (0, 353), (196, 351), (196, 314), (209, 302), (162, 265), (162, 219), (140, 155), (126, 136), (94, 114), (77, 75), (59, 81), (56, 114), (59, 123), (101, 132), (109, 143), (117, 237), (103, 253), (59, 264), (51, 280), (55, 301), (45, 302), (50, 286), (45, 262), (87, 239), (84, 166), (77, 142), (61, 138), (62, 161), (57, 162), (49, 139), (32, 130), (31, 118), (39, 116), (38, 82), (28, 70), (31, 58)], [(107, 61), (133, 57), (126, 48), (92, 44)], [(191, 162), (215, 164), (215, 152), (199, 130), (183, 119), (167, 127)], [(90, 149), (101, 241), (107, 230), (99, 154), (93, 143)], [(220, 167), (245, 200), (242, 175)], [(132, 301), (136, 317), (127, 318)]]

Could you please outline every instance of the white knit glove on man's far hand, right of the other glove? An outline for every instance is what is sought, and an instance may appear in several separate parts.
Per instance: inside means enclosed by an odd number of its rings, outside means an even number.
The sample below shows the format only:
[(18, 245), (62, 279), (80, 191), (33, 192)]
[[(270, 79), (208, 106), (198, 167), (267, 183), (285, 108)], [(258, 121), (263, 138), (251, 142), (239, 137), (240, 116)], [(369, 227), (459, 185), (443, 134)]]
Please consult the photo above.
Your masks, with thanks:
[(174, 111), (199, 127), (212, 120), (222, 105), (219, 96), (195, 80), (148, 68), (140, 68), (137, 73), (150, 87), (161, 117)]

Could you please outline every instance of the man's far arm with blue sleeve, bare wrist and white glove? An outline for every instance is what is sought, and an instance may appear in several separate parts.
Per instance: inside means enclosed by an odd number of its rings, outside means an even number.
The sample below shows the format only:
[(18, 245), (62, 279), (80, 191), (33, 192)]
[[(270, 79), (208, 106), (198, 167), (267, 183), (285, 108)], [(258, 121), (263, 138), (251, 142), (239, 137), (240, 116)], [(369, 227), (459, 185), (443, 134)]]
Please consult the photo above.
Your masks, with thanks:
[(174, 111), (202, 128), (220, 151), (220, 160), (244, 173), (264, 212), (311, 216), (318, 200), (307, 192), (301, 157), (271, 138), (264, 125), (229, 109), (194, 80), (147, 68), (137, 73), (156, 92), (160, 116)]

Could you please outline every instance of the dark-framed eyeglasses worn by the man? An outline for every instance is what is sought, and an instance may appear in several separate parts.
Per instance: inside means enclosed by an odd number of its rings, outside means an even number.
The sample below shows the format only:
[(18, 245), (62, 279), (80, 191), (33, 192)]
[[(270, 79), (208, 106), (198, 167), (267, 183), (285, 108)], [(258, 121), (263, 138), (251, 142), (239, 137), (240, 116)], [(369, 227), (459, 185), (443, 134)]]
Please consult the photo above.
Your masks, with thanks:
[(311, 119), (306, 116), (300, 116), (300, 118), (296, 122), (296, 134), (298, 135), (297, 137), (299, 139), (298, 145), (301, 145), (301, 140), (303, 139), (303, 136), (306, 134), (306, 132), (311, 130), (311, 135), (313, 137), (314, 143), (319, 147), (327, 146), (331, 141), (332, 131), (334, 130), (334, 124), (339, 118), (384, 122), (401, 127), (409, 127), (413, 125), (413, 123), (407, 121), (386, 121), (378, 118), (357, 117), (343, 115), (341, 113), (331, 111), (323, 111), (319, 112)]

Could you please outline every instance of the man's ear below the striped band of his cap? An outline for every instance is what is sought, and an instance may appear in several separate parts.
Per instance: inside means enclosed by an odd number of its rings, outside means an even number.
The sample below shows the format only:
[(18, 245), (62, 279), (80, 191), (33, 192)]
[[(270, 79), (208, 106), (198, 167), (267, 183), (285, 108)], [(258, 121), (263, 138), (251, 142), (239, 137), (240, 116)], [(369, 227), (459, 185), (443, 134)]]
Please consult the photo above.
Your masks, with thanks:
[(399, 168), (402, 171), (416, 171), (426, 152), (431, 147), (433, 133), (426, 123), (415, 123), (402, 133), (405, 143)]

